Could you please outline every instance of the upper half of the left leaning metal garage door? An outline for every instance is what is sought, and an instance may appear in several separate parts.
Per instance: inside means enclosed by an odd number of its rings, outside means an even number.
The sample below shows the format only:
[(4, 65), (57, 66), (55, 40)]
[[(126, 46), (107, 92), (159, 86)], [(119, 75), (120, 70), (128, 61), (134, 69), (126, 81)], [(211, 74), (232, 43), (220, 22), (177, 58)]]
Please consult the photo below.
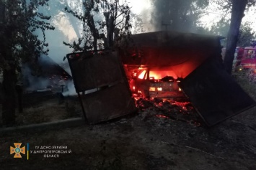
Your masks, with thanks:
[(115, 53), (73, 53), (67, 55), (67, 58), (77, 93), (124, 81), (120, 61)]

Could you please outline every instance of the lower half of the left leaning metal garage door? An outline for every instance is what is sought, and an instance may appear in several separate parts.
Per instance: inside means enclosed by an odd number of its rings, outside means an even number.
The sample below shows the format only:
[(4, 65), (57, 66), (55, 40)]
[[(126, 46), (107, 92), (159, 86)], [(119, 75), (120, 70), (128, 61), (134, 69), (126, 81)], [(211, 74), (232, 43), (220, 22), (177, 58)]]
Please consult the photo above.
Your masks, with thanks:
[(108, 121), (136, 111), (134, 100), (125, 83), (81, 95), (81, 100), (90, 124)]

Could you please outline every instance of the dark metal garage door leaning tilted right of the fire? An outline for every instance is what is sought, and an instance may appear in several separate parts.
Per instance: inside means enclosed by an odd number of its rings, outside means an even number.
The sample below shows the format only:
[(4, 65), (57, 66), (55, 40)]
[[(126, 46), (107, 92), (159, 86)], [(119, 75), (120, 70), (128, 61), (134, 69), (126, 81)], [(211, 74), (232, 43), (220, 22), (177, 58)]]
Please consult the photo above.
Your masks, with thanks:
[(216, 58), (210, 58), (180, 82), (208, 126), (255, 106)]

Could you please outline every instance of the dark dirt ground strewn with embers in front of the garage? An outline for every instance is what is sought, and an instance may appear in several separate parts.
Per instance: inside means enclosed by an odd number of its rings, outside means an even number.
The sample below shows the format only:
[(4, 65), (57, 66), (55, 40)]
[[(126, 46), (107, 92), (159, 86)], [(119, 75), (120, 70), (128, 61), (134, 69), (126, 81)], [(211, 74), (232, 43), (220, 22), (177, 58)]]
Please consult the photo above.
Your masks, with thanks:
[[(256, 107), (208, 128), (190, 103), (137, 104), (138, 113), (94, 126), (1, 136), (0, 169), (256, 169)], [(33, 100), (17, 120), (27, 125), (79, 116), (76, 98), (59, 103), (53, 96)], [(14, 143), (29, 146), (29, 154), (14, 159)]]

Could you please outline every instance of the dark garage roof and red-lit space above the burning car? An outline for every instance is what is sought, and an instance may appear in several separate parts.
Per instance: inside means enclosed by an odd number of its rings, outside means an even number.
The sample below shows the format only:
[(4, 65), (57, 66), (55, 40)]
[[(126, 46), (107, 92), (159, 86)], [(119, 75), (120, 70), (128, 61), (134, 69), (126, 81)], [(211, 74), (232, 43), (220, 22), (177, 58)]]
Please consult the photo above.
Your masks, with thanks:
[(221, 60), (220, 39), (223, 37), (183, 32), (133, 34), (129, 55), (120, 55), (124, 65), (172, 70), (178, 77), (186, 77), (208, 57)]

